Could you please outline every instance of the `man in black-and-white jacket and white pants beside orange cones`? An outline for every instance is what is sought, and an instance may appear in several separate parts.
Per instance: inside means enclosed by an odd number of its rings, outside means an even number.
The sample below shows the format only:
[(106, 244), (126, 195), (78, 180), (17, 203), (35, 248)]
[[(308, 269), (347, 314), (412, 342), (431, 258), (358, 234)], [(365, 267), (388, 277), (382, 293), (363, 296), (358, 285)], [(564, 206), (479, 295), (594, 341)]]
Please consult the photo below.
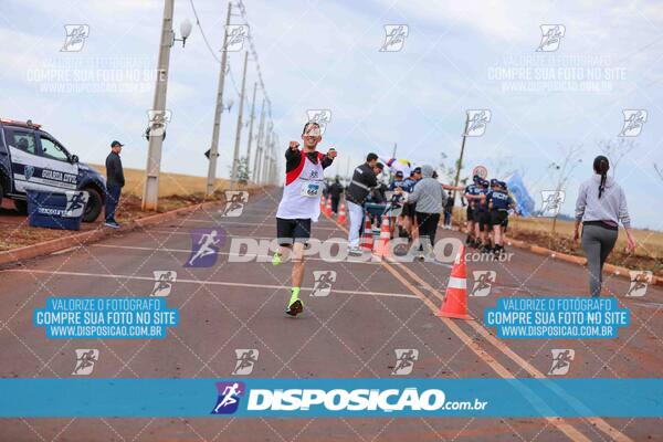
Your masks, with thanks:
[(348, 187), (346, 193), (346, 201), (348, 202), (348, 214), (350, 215), (350, 229), (348, 232), (348, 248), (350, 254), (361, 254), (359, 249), (359, 232), (361, 231), (361, 222), (364, 221), (364, 202), (366, 197), (370, 193), (370, 190), (378, 186), (378, 179), (376, 175), (379, 172), (377, 169), (378, 156), (376, 154), (368, 154), (366, 162), (355, 168), (352, 173), (352, 180)]

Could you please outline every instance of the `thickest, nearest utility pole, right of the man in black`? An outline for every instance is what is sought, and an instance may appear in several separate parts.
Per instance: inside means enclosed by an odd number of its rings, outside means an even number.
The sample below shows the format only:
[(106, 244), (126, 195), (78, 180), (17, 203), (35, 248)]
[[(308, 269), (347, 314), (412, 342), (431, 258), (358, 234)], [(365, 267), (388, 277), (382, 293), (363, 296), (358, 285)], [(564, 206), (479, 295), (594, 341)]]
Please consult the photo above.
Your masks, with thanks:
[[(152, 110), (156, 115), (166, 112), (166, 93), (168, 90), (168, 65), (170, 63), (170, 46), (173, 42), (172, 9), (175, 0), (164, 2), (164, 21), (161, 23), (161, 42), (159, 43), (159, 60), (157, 62), (157, 84)], [(157, 210), (159, 201), (159, 172), (161, 169), (161, 147), (164, 135), (150, 130), (147, 148), (147, 167), (145, 187), (143, 189), (143, 210)]]

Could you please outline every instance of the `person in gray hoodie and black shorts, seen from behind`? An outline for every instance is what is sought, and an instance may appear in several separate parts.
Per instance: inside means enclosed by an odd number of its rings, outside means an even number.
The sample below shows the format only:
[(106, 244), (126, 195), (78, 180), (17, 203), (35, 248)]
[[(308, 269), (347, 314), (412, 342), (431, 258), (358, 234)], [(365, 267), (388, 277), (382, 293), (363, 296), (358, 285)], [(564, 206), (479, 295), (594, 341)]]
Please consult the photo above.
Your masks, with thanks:
[[(421, 179), (411, 193), (406, 193), (407, 202), (415, 203), (414, 218), (419, 227), (420, 250), (425, 250), (427, 253), (432, 251), (432, 245), (435, 243), (440, 213), (446, 202), (446, 192), (442, 185), (433, 178), (433, 172), (431, 166), (421, 166)], [(404, 193), (402, 190), (398, 192)]]

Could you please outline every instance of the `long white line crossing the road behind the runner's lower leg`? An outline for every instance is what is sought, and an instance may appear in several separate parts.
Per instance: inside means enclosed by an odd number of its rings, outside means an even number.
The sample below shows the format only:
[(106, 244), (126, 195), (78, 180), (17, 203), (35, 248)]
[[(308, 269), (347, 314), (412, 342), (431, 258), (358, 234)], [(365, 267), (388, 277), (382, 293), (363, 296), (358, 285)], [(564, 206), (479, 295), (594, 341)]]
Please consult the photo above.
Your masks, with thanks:
[[(113, 280), (137, 280), (137, 281), (149, 281), (155, 282), (154, 276), (131, 276), (131, 275), (114, 275), (114, 274), (98, 274), (98, 273), (82, 273), (82, 272), (63, 272), (63, 271), (49, 271), (49, 270), (33, 270), (33, 269), (8, 269), (0, 271), (0, 273), (40, 273), (40, 274), (54, 274), (62, 276), (81, 276), (81, 277), (105, 277)], [(273, 285), (273, 284), (245, 284), (245, 283), (228, 283), (222, 281), (198, 281), (198, 280), (177, 280), (176, 284), (202, 284), (202, 285), (223, 285), (229, 287), (244, 287), (244, 288), (271, 288), (271, 290), (290, 290), (286, 285)], [(312, 292), (313, 287), (302, 287), (303, 292)], [(361, 296), (386, 296), (386, 297), (407, 297), (411, 299), (418, 299), (414, 295), (408, 295), (404, 293), (385, 293), (385, 292), (357, 292), (357, 291), (345, 291), (333, 288), (334, 293), (341, 293), (345, 295), (361, 295)]]

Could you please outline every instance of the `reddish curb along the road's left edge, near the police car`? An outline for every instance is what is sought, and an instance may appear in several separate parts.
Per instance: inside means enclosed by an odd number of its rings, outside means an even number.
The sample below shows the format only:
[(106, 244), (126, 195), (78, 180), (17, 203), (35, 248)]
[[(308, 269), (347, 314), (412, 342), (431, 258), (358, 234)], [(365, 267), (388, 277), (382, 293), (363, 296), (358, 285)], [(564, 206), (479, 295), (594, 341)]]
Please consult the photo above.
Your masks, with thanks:
[(139, 218), (123, 224), (122, 229), (115, 230), (109, 228), (99, 227), (95, 230), (87, 232), (74, 233), (64, 238), (57, 238), (55, 240), (44, 241), (32, 245), (25, 245), (23, 248), (7, 250), (0, 252), (0, 265), (15, 263), (17, 261), (29, 260), (31, 257), (42, 256), (59, 252), (65, 249), (72, 248), (72, 242), (77, 245), (88, 244), (95, 241), (99, 241), (103, 238), (110, 236), (118, 233), (127, 233), (136, 228), (146, 225), (154, 225), (160, 222), (170, 221), (179, 217), (180, 214), (194, 212), (197, 210), (206, 209), (214, 204), (222, 203), (223, 201), (208, 201), (200, 202), (192, 206), (186, 206), (183, 208), (170, 210), (164, 213), (156, 213), (149, 217)]

